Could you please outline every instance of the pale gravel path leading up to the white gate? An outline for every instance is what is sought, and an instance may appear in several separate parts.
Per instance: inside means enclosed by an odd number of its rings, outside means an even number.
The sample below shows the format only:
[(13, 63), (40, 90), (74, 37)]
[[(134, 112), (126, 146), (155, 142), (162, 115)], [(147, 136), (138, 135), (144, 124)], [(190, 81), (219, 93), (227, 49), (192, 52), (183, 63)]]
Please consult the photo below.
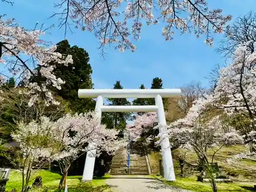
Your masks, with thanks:
[(163, 184), (153, 178), (116, 177), (106, 180), (114, 192), (193, 192)]

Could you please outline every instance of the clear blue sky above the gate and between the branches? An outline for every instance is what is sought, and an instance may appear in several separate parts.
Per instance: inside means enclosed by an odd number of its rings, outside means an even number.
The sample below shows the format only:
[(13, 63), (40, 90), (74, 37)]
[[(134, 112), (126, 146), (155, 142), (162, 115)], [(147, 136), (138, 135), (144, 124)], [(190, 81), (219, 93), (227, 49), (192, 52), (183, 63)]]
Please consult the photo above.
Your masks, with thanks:
[[(0, 14), (15, 17), (25, 28), (33, 28), (36, 22), (50, 26), (57, 23), (57, 18), (47, 19), (53, 14), (53, 2), (50, 0), (13, 0), (14, 6), (0, 3)], [(210, 9), (223, 9), (224, 14), (233, 18), (248, 13), (255, 7), (255, 0), (208, 0)], [(177, 33), (173, 41), (165, 41), (161, 35), (161, 26), (143, 27), (141, 39), (136, 41), (135, 53), (124, 53), (108, 48), (105, 60), (100, 57), (98, 40), (92, 33), (74, 29), (75, 34), (68, 33), (70, 44), (83, 47), (90, 55), (93, 68), (95, 88), (111, 89), (116, 80), (120, 80), (126, 89), (136, 89), (140, 84), (150, 88), (154, 77), (163, 79), (164, 88), (177, 88), (192, 80), (201, 81), (208, 86), (205, 76), (223, 58), (215, 52), (222, 35), (214, 35), (215, 46), (210, 48), (204, 44), (205, 37), (197, 39), (194, 35)], [(56, 44), (63, 40), (63, 30), (57, 27), (50, 30), (43, 39)]]

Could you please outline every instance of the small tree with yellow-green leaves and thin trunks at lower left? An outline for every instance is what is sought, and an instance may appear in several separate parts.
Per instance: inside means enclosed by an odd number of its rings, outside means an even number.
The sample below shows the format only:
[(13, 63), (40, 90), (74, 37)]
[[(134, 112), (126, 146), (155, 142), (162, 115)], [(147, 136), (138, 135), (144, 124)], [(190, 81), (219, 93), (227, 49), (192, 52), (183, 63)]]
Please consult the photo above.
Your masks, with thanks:
[[(54, 148), (55, 138), (52, 134), (52, 122), (47, 117), (41, 117), (39, 123), (35, 120), (29, 124), (18, 123), (18, 129), (12, 133), (12, 138), (19, 143), (22, 154), (16, 154), (15, 165), (22, 173), (22, 192), (29, 190), (32, 166), (35, 162), (39, 168), (51, 161), (51, 147)], [(16, 152), (18, 153), (18, 152)], [(14, 159), (13, 159), (14, 160)]]

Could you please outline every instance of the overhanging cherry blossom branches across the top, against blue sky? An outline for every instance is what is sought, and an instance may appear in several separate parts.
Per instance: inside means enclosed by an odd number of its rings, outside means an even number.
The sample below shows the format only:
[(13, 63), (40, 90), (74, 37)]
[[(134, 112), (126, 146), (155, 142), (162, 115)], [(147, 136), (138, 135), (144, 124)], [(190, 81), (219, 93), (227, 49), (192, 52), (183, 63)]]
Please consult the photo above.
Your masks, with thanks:
[(221, 9), (209, 10), (206, 0), (63, 0), (55, 8), (60, 12), (52, 16), (60, 17), (60, 28), (71, 30), (70, 24), (75, 23), (76, 28), (94, 32), (96, 38), (101, 40), (101, 48), (115, 43), (115, 48), (121, 52), (136, 49), (131, 38), (140, 39), (143, 23), (150, 26), (165, 22), (166, 26), (162, 29), (165, 40), (173, 40), (175, 29), (178, 29), (181, 34), (206, 35), (205, 42), (212, 46), (211, 32), (222, 33), (225, 24), (232, 18), (222, 15)]

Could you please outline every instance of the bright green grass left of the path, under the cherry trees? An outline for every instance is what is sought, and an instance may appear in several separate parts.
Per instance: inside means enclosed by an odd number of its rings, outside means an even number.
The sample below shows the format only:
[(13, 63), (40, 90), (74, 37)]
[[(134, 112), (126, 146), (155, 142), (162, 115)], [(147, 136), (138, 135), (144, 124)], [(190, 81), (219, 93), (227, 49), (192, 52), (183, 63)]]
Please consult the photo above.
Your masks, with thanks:
[[(56, 191), (61, 176), (56, 173), (51, 173), (47, 170), (37, 170), (37, 172), (32, 174), (30, 186), (32, 185), (35, 177), (42, 177), (42, 189), (40, 191)], [(105, 179), (109, 178), (106, 175), (102, 178), (94, 178), (91, 182), (80, 183), (82, 176), (69, 176), (67, 178), (68, 191), (90, 191), (90, 192), (101, 192), (101, 191), (111, 191), (110, 187), (105, 184)], [(6, 185), (6, 191), (11, 191), (15, 188), (19, 191), (22, 187), (22, 174), (16, 171), (12, 171), (9, 176), (9, 181)], [(35, 190), (33, 190), (35, 191)]]

